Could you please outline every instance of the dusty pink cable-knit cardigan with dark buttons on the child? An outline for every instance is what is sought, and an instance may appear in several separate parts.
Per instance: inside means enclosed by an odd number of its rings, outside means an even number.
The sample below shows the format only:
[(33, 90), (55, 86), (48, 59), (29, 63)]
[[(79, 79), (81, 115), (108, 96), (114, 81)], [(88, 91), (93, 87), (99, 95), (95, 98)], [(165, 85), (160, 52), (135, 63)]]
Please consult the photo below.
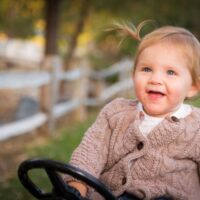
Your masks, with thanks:
[[(107, 104), (70, 163), (117, 196), (128, 191), (144, 200), (163, 195), (200, 200), (200, 109), (192, 107), (182, 119), (166, 117), (144, 136), (139, 130), (144, 116), (136, 105), (123, 98)], [(91, 199), (101, 197), (93, 192)]]

